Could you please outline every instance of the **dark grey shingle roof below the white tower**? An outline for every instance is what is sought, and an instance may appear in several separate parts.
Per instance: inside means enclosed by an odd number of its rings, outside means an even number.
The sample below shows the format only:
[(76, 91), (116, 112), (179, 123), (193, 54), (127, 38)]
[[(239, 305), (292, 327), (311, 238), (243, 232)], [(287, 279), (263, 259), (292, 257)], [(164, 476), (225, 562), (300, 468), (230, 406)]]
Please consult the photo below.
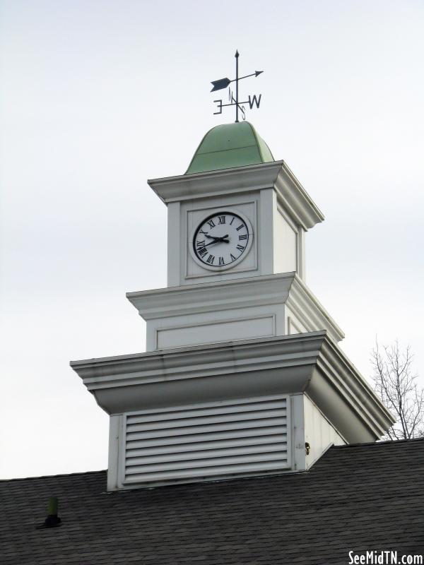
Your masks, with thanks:
[[(347, 564), (424, 552), (424, 441), (332, 447), (309, 472), (107, 494), (105, 471), (0, 482), (0, 562)], [(59, 528), (37, 530), (49, 496)]]

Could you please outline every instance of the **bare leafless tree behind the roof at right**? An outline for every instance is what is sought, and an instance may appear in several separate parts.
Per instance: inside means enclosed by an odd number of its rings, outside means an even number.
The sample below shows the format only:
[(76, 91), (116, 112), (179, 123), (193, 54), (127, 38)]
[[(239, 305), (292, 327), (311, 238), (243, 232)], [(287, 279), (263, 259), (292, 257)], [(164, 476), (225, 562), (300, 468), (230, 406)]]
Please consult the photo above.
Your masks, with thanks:
[(417, 375), (413, 374), (411, 347), (401, 352), (396, 340), (382, 349), (376, 338), (371, 353), (372, 379), (376, 393), (396, 417), (396, 424), (383, 439), (424, 437), (424, 389), (418, 388)]

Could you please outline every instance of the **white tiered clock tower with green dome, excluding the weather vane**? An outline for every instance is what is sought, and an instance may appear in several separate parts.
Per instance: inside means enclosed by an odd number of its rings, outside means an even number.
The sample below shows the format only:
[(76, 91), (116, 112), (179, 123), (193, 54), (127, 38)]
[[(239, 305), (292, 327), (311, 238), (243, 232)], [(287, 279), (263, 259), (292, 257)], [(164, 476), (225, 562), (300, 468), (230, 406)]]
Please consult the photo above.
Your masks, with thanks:
[(167, 287), (129, 292), (146, 352), (72, 362), (110, 414), (108, 489), (302, 472), (392, 418), (305, 283), (324, 216), (248, 122), (206, 133), (167, 206)]

